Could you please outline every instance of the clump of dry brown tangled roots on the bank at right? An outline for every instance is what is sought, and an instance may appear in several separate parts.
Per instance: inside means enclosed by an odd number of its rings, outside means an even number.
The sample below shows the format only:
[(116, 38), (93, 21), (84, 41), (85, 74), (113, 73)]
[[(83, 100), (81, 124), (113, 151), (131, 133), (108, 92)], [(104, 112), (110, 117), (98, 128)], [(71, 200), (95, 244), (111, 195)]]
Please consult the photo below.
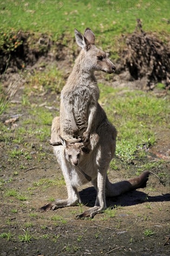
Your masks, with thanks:
[(170, 88), (170, 47), (154, 34), (145, 33), (139, 19), (121, 55), (123, 65), (133, 79), (145, 77), (150, 89), (157, 82), (163, 82), (166, 88)]

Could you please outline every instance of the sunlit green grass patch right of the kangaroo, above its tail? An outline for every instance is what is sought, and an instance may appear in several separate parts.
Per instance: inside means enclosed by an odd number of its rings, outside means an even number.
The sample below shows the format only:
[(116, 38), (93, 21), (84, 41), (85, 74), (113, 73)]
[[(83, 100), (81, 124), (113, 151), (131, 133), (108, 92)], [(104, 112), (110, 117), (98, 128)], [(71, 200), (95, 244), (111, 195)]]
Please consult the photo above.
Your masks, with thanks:
[[(99, 101), (118, 130), (116, 155), (124, 162), (145, 158), (143, 147), (149, 148), (156, 142), (154, 130), (158, 125), (168, 124), (169, 96), (162, 99), (152, 92), (115, 89), (103, 84), (99, 88)], [(111, 162), (111, 168), (114, 166)]]

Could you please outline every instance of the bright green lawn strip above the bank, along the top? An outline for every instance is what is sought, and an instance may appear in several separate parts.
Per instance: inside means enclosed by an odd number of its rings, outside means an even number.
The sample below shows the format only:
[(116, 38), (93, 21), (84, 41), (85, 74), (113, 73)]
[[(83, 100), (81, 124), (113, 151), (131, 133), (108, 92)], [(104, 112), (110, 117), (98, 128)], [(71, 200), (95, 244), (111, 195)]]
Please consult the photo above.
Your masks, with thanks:
[[(42, 1), (38, 0), (33, 6), (32, 1), (27, 0), (27, 6), (23, 4), (18, 8), (10, 7), (12, 1), (7, 2), (7, 7), (1, 8), (1, 30), (4, 33), (7, 28), (16, 31), (21, 29), (33, 33), (52, 34), (57, 39), (65, 33), (73, 36), (74, 27), (80, 31), (84, 31), (85, 27), (91, 27), (97, 36), (102, 36), (103, 33), (106, 38), (113, 38), (127, 31), (134, 31), (137, 18), (144, 20), (144, 30), (169, 33), (166, 22), (161, 20), (169, 19), (167, 0), (131, 0), (127, 8), (125, 3), (117, 0), (117, 4), (111, 2), (110, 9), (105, 7), (107, 1), (97, 3), (91, 0), (48, 0), (45, 1), (46, 5), (40, 5)], [(98, 4), (101, 6), (96, 8)]]

